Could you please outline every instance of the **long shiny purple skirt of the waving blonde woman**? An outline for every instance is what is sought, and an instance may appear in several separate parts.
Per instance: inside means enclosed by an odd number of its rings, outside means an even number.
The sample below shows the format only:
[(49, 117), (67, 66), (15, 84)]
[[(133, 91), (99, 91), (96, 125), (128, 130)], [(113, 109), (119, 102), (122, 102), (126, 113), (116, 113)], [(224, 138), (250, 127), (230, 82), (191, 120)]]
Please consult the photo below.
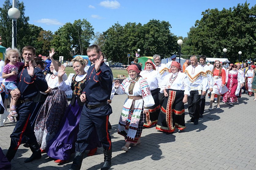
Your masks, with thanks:
[[(82, 109), (83, 106), (79, 106), (77, 101), (74, 105), (68, 106), (59, 129), (55, 137), (49, 142), (49, 148), (46, 150), (49, 157), (67, 161), (70, 155), (75, 152), (75, 142), (79, 131)], [(101, 147), (96, 128), (93, 129), (90, 139), (92, 140), (89, 141), (89, 146), (86, 150)]]

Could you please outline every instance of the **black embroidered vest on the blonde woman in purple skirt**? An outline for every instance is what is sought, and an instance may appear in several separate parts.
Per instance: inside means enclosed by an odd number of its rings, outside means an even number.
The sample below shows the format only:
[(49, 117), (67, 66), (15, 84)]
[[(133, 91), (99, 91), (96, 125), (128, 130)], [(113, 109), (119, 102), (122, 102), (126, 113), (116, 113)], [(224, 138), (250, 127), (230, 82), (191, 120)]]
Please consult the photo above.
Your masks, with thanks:
[(82, 94), (82, 92), (85, 88), (86, 77), (83, 80), (77, 82), (76, 81), (76, 76), (77, 76), (77, 74), (75, 74), (72, 77), (71, 89), (72, 89), (73, 93), (72, 93), (72, 98), (71, 98), (70, 104), (73, 105), (76, 102), (76, 99), (77, 99), (78, 105), (83, 106), (85, 104), (85, 102), (81, 102), (80, 95)]

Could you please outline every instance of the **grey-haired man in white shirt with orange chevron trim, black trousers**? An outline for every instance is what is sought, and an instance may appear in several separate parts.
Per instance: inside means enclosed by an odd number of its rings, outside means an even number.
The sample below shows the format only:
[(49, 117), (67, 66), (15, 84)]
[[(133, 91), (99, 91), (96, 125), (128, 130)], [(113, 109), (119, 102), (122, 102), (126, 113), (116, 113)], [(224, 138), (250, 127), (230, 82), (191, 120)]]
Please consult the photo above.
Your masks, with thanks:
[(190, 57), (191, 65), (187, 66), (185, 72), (190, 81), (190, 96), (188, 96), (188, 112), (191, 117), (187, 123), (194, 122), (198, 124), (198, 119), (200, 117), (200, 101), (201, 95), (205, 96), (206, 87), (208, 80), (206, 74), (201, 66), (198, 66), (197, 57), (192, 55)]

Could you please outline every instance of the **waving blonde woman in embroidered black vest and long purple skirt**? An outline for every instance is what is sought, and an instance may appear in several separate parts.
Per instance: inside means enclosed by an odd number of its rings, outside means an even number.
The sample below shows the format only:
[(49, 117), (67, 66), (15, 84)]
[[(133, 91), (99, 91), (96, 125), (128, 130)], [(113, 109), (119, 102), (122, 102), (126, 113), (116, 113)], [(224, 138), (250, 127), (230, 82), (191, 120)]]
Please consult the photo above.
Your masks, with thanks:
[[(47, 154), (49, 157), (55, 158), (55, 163), (63, 163), (70, 159), (70, 155), (75, 151), (75, 142), (79, 131), (79, 121), (81, 111), (85, 102), (81, 102), (80, 95), (85, 88), (86, 75), (85, 63), (82, 57), (76, 56), (73, 58), (73, 69), (75, 74), (70, 73), (68, 79), (64, 81), (62, 76), (65, 74), (65, 68), (60, 66), (58, 71), (58, 89), (62, 91), (72, 90), (72, 98), (66, 113), (63, 116), (62, 122), (55, 137), (49, 142)], [(97, 147), (101, 147), (96, 129), (91, 135), (91, 141), (87, 150), (90, 150), (88, 156), (96, 153)]]

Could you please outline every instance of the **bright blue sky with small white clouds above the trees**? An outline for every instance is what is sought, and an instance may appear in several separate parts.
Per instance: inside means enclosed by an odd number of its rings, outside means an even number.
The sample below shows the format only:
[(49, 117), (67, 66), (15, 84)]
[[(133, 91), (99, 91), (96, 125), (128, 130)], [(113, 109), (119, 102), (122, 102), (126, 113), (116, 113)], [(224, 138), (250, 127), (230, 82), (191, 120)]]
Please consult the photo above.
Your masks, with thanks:
[[(20, 0), (21, 1), (21, 0)], [(4, 0), (0, 0), (2, 7)], [(29, 24), (45, 30), (56, 31), (67, 22), (87, 19), (94, 32), (103, 32), (115, 23), (127, 22), (146, 24), (149, 20), (165, 20), (171, 24), (171, 32), (187, 36), (190, 27), (200, 20), (206, 9), (230, 8), (245, 0), (25, 0), (25, 16)], [(255, 0), (247, 0), (251, 6)]]

